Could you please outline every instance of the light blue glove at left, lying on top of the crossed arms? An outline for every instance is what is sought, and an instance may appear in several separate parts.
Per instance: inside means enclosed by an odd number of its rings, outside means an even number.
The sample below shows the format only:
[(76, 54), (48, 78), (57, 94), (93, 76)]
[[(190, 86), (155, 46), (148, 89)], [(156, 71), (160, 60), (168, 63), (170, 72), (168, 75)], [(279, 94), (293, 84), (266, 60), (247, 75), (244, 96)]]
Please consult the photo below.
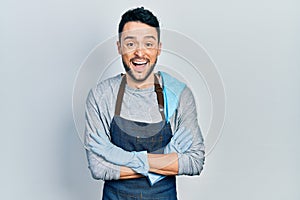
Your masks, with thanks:
[(110, 142), (108, 137), (97, 130), (97, 134), (90, 134), (92, 140), (88, 147), (95, 154), (102, 156), (107, 161), (121, 166), (126, 166), (137, 173), (148, 175), (149, 164), (146, 151), (128, 152)]

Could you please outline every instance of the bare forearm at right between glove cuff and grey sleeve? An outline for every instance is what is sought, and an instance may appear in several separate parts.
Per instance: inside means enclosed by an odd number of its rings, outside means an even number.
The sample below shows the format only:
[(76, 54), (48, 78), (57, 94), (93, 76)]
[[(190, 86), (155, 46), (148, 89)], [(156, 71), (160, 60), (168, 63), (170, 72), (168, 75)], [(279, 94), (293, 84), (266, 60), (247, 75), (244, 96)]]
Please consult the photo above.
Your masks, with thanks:
[(178, 174), (178, 155), (171, 154), (148, 154), (150, 172), (163, 175)]

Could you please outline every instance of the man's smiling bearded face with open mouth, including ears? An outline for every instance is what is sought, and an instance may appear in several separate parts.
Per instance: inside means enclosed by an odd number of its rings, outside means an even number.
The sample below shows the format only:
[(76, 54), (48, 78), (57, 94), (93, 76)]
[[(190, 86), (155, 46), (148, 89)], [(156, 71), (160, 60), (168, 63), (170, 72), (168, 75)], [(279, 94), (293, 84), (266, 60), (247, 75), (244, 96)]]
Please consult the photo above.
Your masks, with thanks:
[(117, 45), (127, 74), (136, 82), (145, 81), (161, 51), (156, 28), (141, 22), (127, 22)]

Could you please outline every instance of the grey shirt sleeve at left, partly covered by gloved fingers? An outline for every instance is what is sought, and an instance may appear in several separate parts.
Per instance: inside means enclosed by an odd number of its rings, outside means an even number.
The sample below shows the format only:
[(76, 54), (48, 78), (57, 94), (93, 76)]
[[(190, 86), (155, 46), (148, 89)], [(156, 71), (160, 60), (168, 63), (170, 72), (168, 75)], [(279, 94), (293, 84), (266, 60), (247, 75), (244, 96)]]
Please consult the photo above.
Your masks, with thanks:
[[(97, 95), (96, 89), (89, 92), (86, 100), (85, 110), (85, 146), (91, 140), (90, 133), (96, 133), (98, 130), (101, 134), (109, 136), (110, 120), (99, 108), (101, 104), (101, 97)], [(102, 95), (103, 96), (103, 95)], [(107, 109), (106, 109), (107, 110)], [(101, 180), (116, 180), (120, 178), (120, 167), (104, 160), (104, 158), (94, 154), (92, 151), (86, 149), (88, 160), (88, 167), (94, 179)]]

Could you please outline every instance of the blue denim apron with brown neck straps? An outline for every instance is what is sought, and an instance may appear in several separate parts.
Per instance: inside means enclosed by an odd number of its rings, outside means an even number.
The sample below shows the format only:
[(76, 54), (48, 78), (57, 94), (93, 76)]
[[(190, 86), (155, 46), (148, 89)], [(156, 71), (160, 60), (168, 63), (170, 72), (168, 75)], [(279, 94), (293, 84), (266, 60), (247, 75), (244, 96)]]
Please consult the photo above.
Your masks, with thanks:
[[(125, 85), (126, 76), (124, 75), (117, 96), (115, 115), (110, 125), (112, 143), (126, 151), (163, 153), (163, 148), (172, 137), (172, 130), (170, 123), (165, 120), (163, 93), (157, 77), (155, 76), (154, 85), (159, 111), (163, 119), (158, 123), (131, 121), (120, 117)], [(105, 181), (102, 199), (177, 200), (176, 178), (167, 176), (153, 186), (146, 177)]]

